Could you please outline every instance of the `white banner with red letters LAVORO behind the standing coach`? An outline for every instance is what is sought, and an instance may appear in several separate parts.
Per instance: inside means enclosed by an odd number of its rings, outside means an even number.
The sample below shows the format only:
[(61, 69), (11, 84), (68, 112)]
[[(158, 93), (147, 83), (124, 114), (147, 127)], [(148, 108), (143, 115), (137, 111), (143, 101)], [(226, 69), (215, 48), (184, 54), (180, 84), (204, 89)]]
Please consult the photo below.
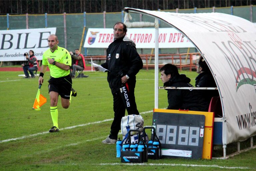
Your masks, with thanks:
[[(131, 28), (126, 36), (136, 48), (155, 48), (154, 28)], [(85, 48), (108, 48), (113, 42), (113, 29), (88, 29), (84, 42)], [(194, 45), (174, 28), (159, 28), (159, 48), (192, 48)]]

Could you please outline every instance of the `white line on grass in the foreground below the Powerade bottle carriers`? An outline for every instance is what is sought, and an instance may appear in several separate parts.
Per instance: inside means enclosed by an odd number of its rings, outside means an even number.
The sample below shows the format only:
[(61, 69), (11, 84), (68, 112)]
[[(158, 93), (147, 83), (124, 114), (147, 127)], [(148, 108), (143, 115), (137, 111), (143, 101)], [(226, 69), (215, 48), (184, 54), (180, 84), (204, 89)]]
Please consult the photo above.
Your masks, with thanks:
[(228, 166), (218, 166), (218, 165), (168, 164), (168, 163), (101, 163), (100, 165), (186, 166), (186, 167), (216, 167), (216, 168), (222, 168), (222, 169), (250, 169), (249, 167), (228, 167)]

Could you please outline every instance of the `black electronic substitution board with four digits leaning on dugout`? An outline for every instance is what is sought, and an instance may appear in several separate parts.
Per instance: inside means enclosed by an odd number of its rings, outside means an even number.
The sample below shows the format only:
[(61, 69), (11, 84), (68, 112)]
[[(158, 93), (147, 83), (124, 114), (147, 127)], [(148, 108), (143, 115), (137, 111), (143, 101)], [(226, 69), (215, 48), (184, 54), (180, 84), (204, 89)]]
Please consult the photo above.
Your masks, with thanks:
[(163, 157), (202, 158), (204, 115), (154, 112), (152, 126), (161, 142)]

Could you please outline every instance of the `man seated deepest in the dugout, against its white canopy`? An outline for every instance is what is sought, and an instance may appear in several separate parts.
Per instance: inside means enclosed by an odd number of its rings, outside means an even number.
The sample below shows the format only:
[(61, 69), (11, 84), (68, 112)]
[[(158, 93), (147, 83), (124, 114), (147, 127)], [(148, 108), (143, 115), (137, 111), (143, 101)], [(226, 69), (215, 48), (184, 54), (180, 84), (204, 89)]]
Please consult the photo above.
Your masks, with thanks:
[[(216, 83), (211, 74), (209, 67), (207, 66), (205, 60), (200, 56), (198, 63), (196, 64), (196, 72), (198, 76), (196, 77), (196, 87), (216, 87)], [(208, 106), (211, 102), (212, 97), (218, 97), (218, 90), (197, 90), (207, 101)]]

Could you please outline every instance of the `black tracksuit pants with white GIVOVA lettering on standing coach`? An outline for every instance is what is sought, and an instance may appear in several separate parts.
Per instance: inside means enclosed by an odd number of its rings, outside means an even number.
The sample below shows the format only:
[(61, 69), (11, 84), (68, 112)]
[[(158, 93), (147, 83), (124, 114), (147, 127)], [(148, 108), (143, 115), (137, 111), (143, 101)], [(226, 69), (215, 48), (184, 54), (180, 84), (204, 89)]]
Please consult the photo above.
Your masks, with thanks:
[(135, 83), (125, 83), (120, 90), (113, 93), (114, 120), (111, 125), (109, 138), (117, 139), (119, 130), (121, 129), (121, 120), (125, 116), (125, 109), (128, 114), (139, 114), (135, 102), (134, 88)]

